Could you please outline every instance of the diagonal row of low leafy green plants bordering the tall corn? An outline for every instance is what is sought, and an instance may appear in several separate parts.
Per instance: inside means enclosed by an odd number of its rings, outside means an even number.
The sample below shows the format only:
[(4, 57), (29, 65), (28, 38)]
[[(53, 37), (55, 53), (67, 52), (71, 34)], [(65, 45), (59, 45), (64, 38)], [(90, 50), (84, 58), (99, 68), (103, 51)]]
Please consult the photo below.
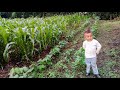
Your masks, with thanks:
[[(66, 45), (66, 41), (59, 42), (62, 48)], [(44, 77), (43, 71), (50, 65), (52, 65), (52, 56), (60, 53), (60, 46), (56, 45), (51, 49), (50, 53), (45, 58), (39, 59), (36, 63), (34, 62), (29, 67), (12, 68), (9, 73), (9, 78), (41, 78)], [(62, 65), (63, 67), (63, 65)], [(54, 73), (50, 74), (49, 77), (54, 77)]]

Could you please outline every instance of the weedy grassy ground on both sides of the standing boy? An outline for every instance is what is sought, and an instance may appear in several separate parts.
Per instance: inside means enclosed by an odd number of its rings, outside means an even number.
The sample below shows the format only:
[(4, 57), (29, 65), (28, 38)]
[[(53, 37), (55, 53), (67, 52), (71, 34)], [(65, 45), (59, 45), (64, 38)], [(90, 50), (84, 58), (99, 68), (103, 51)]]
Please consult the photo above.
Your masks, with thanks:
[[(120, 21), (99, 21), (98, 37), (102, 49), (98, 55), (97, 64), (102, 78), (120, 78)], [(83, 37), (78, 33), (72, 42), (58, 57), (58, 62), (47, 69), (45, 77), (86, 78), (85, 65), (73, 65), (73, 56), (82, 46)], [(49, 73), (49, 74), (48, 74)], [(91, 70), (92, 73), (92, 70)], [(94, 78), (91, 74), (89, 78)]]

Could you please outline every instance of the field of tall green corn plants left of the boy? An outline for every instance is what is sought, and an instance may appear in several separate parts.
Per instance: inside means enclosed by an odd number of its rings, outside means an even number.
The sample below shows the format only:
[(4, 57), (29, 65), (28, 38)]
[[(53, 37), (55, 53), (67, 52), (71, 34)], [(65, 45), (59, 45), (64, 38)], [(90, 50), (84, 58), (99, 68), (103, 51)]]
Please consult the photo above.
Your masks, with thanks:
[(35, 54), (53, 47), (61, 37), (68, 37), (88, 18), (79, 13), (46, 18), (0, 18), (0, 63), (33, 60)]

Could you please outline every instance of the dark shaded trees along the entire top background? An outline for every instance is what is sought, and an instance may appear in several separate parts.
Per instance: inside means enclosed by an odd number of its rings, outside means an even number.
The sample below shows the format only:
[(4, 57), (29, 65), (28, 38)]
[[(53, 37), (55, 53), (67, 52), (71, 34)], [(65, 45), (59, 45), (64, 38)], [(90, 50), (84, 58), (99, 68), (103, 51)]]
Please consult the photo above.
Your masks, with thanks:
[[(28, 17), (47, 17), (53, 15), (66, 15), (75, 12), (0, 12), (2, 18), (28, 18)], [(120, 12), (80, 12), (81, 14), (97, 15), (102, 20), (111, 20), (120, 16)]]

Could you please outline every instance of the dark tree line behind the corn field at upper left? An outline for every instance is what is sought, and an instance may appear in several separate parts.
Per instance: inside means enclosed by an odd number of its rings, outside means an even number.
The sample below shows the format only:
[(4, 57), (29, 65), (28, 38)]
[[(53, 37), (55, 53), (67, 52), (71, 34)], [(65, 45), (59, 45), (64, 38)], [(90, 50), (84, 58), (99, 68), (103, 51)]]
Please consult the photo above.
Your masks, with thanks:
[(2, 18), (28, 18), (28, 17), (45, 17), (45, 16), (53, 16), (53, 15), (66, 15), (73, 14), (75, 12), (0, 12), (0, 16)]

